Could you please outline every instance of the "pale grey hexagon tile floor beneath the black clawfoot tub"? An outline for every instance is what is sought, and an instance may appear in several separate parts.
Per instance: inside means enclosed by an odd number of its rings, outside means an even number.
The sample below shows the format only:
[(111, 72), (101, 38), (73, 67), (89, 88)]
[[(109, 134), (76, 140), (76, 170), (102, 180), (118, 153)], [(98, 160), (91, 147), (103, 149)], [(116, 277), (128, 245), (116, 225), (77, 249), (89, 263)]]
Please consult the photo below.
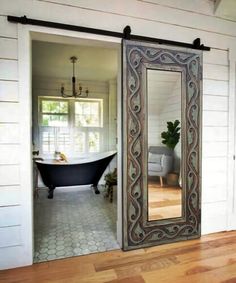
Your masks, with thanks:
[(119, 249), (116, 204), (88, 187), (39, 190), (34, 200), (34, 262)]

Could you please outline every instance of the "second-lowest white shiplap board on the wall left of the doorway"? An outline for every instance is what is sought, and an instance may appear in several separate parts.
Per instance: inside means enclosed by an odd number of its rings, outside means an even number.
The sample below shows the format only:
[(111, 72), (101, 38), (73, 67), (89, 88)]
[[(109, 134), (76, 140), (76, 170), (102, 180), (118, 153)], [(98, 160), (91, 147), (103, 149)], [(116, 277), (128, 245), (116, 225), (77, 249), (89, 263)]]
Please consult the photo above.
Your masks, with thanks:
[(20, 229), (21, 226), (0, 228), (0, 248), (20, 245)]

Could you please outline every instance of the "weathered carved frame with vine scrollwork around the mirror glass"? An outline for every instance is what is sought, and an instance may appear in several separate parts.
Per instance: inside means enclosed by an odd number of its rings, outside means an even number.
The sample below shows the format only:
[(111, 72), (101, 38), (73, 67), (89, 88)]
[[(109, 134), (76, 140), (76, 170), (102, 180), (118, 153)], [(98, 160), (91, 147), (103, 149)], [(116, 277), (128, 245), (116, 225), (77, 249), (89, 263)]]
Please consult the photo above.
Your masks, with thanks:
[[(148, 246), (157, 243), (191, 238), (200, 235), (200, 135), (201, 127), (201, 54), (173, 50), (153, 45), (125, 41), (125, 84), (126, 84), (126, 217), (125, 249)], [(143, 78), (144, 66), (161, 68), (178, 67), (185, 76), (185, 219), (157, 226), (143, 222), (144, 166), (145, 159), (145, 95)], [(158, 67), (158, 68), (159, 68)]]

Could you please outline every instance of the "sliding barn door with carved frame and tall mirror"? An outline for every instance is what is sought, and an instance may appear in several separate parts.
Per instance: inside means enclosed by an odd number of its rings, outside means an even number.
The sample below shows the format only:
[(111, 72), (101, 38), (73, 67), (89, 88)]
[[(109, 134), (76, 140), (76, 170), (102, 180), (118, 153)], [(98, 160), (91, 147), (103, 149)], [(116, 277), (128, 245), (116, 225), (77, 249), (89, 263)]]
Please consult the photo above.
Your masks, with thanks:
[(123, 246), (200, 237), (202, 52), (123, 41)]

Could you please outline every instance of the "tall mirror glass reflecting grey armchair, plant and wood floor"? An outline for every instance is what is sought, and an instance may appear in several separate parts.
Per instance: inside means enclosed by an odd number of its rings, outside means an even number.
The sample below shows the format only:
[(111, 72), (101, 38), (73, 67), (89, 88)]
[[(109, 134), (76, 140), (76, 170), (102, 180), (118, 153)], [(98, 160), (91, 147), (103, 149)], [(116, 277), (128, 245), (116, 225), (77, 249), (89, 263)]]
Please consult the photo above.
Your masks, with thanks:
[(147, 70), (148, 220), (182, 216), (181, 73)]

